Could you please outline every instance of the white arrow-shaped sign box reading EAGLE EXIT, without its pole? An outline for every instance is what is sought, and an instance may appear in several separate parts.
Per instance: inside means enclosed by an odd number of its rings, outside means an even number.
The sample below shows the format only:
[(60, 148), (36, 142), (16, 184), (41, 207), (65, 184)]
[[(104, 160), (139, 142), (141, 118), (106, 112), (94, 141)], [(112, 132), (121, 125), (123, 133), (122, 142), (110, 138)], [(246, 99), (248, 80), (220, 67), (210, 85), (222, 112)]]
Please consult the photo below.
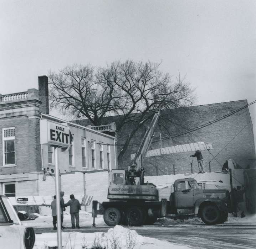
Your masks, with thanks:
[(55, 123), (46, 119), (40, 120), (40, 143), (67, 148), (73, 136), (65, 124)]

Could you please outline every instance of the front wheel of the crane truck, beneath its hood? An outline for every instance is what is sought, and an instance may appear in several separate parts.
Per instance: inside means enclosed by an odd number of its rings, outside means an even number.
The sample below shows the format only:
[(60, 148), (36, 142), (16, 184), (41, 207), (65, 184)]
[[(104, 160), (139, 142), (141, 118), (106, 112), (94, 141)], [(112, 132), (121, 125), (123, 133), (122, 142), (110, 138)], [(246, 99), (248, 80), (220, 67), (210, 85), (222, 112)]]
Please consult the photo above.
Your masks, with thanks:
[(200, 217), (207, 225), (218, 224), (221, 218), (220, 210), (213, 204), (203, 206)]

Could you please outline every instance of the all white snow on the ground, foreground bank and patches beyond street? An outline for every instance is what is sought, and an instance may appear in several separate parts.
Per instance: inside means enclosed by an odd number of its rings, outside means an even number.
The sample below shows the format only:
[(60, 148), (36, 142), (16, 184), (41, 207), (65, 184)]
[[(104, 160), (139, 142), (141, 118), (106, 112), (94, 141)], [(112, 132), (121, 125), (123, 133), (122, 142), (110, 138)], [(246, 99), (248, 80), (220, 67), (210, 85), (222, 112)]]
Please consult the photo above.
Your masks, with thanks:
[[(244, 218), (232, 217), (229, 214), (228, 221), (225, 223), (255, 223), (256, 214), (247, 214)], [(41, 216), (40, 214), (32, 214), (32, 217), (35, 217), (35, 220), (26, 220), (22, 221), (24, 226), (30, 227), (48, 227), (49, 233), (36, 234), (36, 242), (34, 249), (48, 249), (48, 247), (57, 246), (57, 233), (52, 233), (52, 217), (51, 216)], [(91, 227), (93, 223), (93, 218), (90, 213), (85, 211), (80, 212), (80, 227)], [(193, 218), (188, 220), (176, 220), (161, 218), (158, 219), (158, 225), (164, 224), (201, 224), (203, 223), (200, 218)], [(103, 221), (103, 216), (98, 215), (95, 218), (96, 227), (106, 226)], [(63, 226), (70, 228), (71, 220), (70, 214), (64, 213)], [(136, 242), (136, 244), (132, 244)], [(93, 245), (101, 245), (109, 249), (119, 248), (114, 245), (120, 246), (121, 249), (187, 249), (190, 248), (187, 245), (177, 245), (170, 243), (164, 240), (158, 240), (149, 237), (143, 237), (137, 234), (136, 231), (128, 228), (123, 228), (122, 226), (116, 226), (114, 228), (109, 228), (107, 233), (81, 233), (81, 232), (65, 232), (65, 229), (62, 230), (62, 246), (65, 249), (82, 249), (83, 245), (87, 248), (91, 248)], [(133, 247), (134, 246), (134, 247)], [(84, 247), (86, 248), (86, 247)]]

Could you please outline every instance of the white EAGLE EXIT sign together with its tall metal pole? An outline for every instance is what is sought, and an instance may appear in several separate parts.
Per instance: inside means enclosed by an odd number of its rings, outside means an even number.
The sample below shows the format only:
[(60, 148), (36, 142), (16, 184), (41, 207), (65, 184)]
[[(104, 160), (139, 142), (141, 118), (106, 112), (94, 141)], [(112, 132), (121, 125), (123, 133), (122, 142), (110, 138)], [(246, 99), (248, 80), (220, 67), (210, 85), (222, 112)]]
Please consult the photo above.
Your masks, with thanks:
[(72, 141), (73, 136), (67, 124), (55, 123), (49, 120), (40, 120), (40, 143), (54, 147), (58, 249), (62, 249), (58, 148), (67, 149), (70, 147)]

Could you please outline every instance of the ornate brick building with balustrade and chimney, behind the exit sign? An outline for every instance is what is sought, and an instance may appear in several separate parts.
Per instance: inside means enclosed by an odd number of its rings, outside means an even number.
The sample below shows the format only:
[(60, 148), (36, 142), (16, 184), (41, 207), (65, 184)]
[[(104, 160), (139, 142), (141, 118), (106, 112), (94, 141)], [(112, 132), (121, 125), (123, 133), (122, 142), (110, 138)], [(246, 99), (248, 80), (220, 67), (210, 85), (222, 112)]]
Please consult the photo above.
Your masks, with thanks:
[[(40, 120), (66, 123), (73, 134), (69, 151), (58, 149), (61, 174), (116, 168), (116, 149), (112, 146), (116, 138), (49, 115), (48, 78), (38, 78), (38, 90), (0, 95), (0, 194), (36, 196), (44, 192), (39, 184), (42, 169), (54, 169), (55, 158), (52, 147), (40, 144)], [(70, 183), (65, 181), (68, 186), (74, 182), (73, 178)], [(84, 185), (79, 186), (85, 194)]]

